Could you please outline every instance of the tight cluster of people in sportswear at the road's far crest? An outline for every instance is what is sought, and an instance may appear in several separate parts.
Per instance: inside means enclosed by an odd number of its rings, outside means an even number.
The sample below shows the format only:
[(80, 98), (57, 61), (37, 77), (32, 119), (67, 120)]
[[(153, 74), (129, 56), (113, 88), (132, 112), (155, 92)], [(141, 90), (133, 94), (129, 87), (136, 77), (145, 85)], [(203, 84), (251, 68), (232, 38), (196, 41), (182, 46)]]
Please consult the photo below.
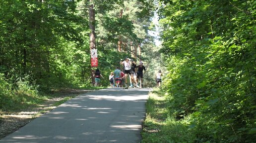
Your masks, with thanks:
[[(111, 87), (124, 87), (128, 88), (128, 75), (130, 85), (129, 87), (143, 87), (143, 70), (146, 71), (143, 66), (143, 62), (140, 61), (139, 65), (136, 66), (136, 62), (132, 59), (125, 58), (125, 60), (120, 61), (121, 65), (124, 65), (124, 72), (120, 70), (119, 67), (116, 68), (114, 72), (111, 72), (109, 76)], [(140, 79), (140, 85), (138, 85), (138, 80)]]

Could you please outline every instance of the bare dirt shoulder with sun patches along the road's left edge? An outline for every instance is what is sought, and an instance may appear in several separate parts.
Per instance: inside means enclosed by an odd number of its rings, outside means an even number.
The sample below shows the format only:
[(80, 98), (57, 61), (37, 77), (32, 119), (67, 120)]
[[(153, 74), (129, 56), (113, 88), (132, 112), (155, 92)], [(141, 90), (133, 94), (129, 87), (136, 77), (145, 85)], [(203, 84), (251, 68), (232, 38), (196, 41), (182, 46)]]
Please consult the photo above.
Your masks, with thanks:
[(0, 111), (0, 140), (25, 126), (33, 119), (58, 107), (65, 99), (70, 99), (86, 92), (89, 92), (89, 90), (65, 89), (58, 91), (58, 96), (48, 99), (40, 105), (22, 110)]

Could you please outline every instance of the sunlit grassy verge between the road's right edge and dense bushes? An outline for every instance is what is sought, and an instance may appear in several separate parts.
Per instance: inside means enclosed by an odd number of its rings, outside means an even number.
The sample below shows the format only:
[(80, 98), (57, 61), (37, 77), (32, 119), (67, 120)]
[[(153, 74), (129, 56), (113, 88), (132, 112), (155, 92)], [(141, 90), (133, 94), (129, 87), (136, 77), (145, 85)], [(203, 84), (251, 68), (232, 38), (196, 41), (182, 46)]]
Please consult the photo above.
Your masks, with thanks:
[(169, 116), (169, 102), (160, 89), (154, 89), (146, 103), (141, 143), (192, 143), (189, 118), (175, 120)]

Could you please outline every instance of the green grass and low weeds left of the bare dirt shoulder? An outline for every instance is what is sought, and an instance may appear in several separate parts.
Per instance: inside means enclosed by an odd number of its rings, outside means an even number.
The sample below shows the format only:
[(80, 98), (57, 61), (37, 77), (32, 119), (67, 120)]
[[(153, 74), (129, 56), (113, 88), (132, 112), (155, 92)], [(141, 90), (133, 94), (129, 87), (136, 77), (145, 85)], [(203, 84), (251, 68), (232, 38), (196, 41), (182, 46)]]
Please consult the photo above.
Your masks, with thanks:
[(37, 92), (29, 87), (8, 91), (4, 96), (0, 96), (0, 114), (18, 112), (29, 108), (36, 108), (53, 99), (61, 99), (54, 106), (59, 106), (65, 101), (90, 90), (98, 90), (105, 87), (87, 87), (79, 89), (58, 89), (51, 93)]

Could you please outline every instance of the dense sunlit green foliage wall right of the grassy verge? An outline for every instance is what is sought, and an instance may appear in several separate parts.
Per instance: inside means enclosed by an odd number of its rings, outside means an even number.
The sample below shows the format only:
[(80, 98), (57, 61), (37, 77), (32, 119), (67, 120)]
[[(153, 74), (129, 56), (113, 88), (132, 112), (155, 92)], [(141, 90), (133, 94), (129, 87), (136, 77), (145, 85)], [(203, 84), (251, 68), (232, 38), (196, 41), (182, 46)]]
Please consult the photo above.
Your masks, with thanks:
[(191, 116), (196, 142), (253, 142), (255, 2), (162, 1), (170, 114)]

